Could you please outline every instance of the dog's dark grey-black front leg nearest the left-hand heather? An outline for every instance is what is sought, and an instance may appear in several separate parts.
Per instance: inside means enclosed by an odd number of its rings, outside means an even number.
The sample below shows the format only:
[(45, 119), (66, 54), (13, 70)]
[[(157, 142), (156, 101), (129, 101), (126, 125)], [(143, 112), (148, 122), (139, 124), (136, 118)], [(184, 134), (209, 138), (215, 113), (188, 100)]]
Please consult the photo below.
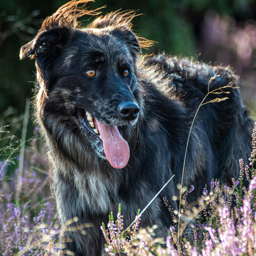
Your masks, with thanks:
[(72, 179), (57, 169), (51, 170), (50, 178), (61, 222), (63, 255), (100, 256), (103, 249), (100, 226), (107, 222), (108, 215), (91, 213)]

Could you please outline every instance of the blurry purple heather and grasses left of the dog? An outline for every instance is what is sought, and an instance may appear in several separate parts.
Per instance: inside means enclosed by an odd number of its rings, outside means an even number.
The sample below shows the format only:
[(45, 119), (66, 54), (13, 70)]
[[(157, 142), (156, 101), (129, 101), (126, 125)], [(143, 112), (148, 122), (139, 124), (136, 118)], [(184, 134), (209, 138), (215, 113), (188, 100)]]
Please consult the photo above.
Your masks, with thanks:
[(20, 154), (14, 156), (25, 142), (15, 141), (7, 129), (0, 130), (0, 140), (8, 140), (0, 149), (0, 254), (61, 255), (59, 225), (47, 185), (47, 161), (37, 150), (38, 128), (24, 150), (22, 175), (17, 168), (10, 177), (6, 176), (7, 167), (20, 161)]

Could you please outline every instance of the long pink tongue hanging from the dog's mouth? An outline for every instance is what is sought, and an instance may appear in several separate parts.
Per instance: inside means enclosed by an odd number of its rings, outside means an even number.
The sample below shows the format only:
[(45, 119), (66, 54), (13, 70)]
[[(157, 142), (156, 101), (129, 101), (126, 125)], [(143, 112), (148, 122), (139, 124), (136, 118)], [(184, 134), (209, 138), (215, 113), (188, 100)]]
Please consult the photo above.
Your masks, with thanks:
[(105, 125), (93, 119), (96, 129), (100, 132), (103, 148), (109, 163), (114, 168), (123, 168), (128, 163), (130, 149), (116, 125)]

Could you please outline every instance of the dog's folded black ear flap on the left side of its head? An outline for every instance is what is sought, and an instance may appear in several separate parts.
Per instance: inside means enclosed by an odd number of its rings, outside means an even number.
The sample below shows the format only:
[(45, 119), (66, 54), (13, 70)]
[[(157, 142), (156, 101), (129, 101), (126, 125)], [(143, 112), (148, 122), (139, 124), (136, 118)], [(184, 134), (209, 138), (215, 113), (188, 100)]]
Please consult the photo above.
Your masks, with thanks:
[(40, 55), (53, 57), (65, 44), (68, 37), (67, 27), (55, 27), (40, 31), (37, 36), (20, 49), (20, 59), (38, 58)]

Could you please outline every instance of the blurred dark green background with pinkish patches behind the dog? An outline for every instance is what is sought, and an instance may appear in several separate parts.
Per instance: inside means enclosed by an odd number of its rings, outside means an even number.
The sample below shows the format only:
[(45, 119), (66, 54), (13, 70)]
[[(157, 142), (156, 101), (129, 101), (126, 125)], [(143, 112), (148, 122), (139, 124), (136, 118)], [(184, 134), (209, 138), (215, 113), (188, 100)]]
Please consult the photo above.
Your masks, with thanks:
[[(37, 33), (44, 18), (66, 0), (0, 0), (0, 127), (21, 136), (27, 98), (33, 96), (35, 65), (19, 60), (19, 49)], [(138, 10), (134, 31), (158, 43), (145, 54), (195, 57), (212, 64), (231, 65), (242, 78), (244, 104), (256, 119), (256, 1), (255, 0), (96, 0), (102, 13)], [(87, 17), (84, 17), (87, 19)], [(87, 24), (88, 21), (84, 22)], [(32, 112), (32, 108), (31, 108)], [(28, 135), (33, 135), (29, 118)]]

